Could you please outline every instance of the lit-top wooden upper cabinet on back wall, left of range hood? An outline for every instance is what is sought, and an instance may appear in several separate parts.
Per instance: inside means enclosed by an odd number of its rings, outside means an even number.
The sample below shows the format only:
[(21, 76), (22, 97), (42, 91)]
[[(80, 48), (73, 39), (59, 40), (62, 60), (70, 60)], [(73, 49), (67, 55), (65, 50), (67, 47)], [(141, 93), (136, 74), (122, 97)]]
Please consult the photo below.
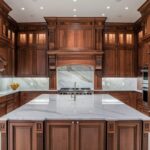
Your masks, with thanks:
[(17, 76), (47, 76), (47, 28), (45, 24), (19, 24)]

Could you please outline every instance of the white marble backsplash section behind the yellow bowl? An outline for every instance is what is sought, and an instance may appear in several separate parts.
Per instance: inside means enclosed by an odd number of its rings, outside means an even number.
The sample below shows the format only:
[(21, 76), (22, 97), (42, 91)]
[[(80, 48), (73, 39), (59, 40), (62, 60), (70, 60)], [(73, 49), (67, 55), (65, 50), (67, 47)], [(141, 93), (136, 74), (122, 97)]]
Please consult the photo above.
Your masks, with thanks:
[(10, 84), (20, 84), (19, 90), (48, 90), (49, 78), (0, 78), (0, 91), (10, 90)]

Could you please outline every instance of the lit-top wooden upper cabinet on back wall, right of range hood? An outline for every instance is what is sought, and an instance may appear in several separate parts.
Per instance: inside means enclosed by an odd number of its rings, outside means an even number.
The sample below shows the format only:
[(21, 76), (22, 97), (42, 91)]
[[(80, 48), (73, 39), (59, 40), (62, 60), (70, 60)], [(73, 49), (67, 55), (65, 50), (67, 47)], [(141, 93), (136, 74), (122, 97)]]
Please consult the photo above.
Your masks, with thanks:
[(135, 76), (133, 24), (109, 23), (104, 31), (105, 77)]

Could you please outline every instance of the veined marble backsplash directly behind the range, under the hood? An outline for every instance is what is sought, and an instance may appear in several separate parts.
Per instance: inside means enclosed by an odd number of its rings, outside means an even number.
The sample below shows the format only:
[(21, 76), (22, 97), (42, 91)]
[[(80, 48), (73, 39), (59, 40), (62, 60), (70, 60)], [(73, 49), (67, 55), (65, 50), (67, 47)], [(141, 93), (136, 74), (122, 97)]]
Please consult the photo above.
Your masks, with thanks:
[(57, 89), (72, 88), (74, 83), (79, 88), (94, 89), (94, 69), (92, 66), (68, 65), (57, 68)]

